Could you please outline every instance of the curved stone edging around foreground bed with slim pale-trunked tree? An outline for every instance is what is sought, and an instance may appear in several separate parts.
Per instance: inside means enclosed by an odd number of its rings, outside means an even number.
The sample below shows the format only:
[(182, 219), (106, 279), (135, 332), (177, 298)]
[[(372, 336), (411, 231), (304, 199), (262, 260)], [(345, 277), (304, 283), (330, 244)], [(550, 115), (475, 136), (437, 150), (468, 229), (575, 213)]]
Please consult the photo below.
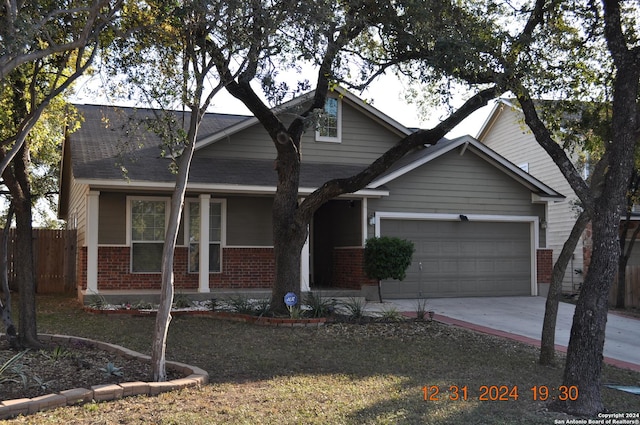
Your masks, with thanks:
[[(38, 338), (42, 342), (58, 342), (67, 345), (76, 342), (90, 344), (109, 353), (121, 355), (125, 359), (137, 358), (146, 362), (151, 361), (151, 356), (129, 350), (119, 345), (88, 338), (47, 334), (40, 334)], [(41, 410), (82, 404), (92, 400), (109, 401), (134, 395), (158, 395), (166, 391), (186, 387), (199, 387), (209, 383), (209, 374), (199, 367), (172, 361), (167, 361), (166, 367), (167, 369), (182, 373), (185, 377), (166, 382), (137, 381), (123, 382), (120, 384), (94, 385), (90, 389), (73, 388), (60, 391), (57, 394), (47, 394), (40, 397), (5, 400), (0, 403), (0, 419), (8, 419), (18, 415), (29, 415)]]

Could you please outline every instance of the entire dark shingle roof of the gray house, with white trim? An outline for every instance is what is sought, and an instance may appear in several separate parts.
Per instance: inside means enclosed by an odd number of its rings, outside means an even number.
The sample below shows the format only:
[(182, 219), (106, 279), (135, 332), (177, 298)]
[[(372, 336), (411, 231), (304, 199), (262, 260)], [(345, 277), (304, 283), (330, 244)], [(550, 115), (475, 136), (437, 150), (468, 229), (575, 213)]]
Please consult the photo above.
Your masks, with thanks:
[[(339, 89), (340, 95), (352, 106), (378, 123), (393, 130), (399, 137), (412, 132), (384, 115), (350, 92)], [(294, 99), (278, 111), (286, 111), (307, 102), (313, 93)], [(99, 105), (76, 105), (84, 116), (82, 127), (68, 136), (64, 144), (63, 173), (73, 173), (78, 183), (95, 188), (162, 189), (173, 188), (175, 176), (169, 171), (169, 159), (160, 155), (160, 138), (144, 124), (145, 118), (154, 116), (150, 109), (124, 108)], [(284, 112), (283, 112), (284, 113)], [(188, 120), (189, 112), (177, 111), (176, 119)], [(258, 120), (246, 115), (207, 113), (202, 119), (196, 149), (215, 143), (228, 135), (259, 125)], [(525, 173), (496, 152), (470, 136), (453, 140), (442, 139), (436, 145), (408, 154), (387, 172), (363, 190), (361, 196), (386, 196), (385, 183), (420, 167), (429, 161), (460, 148), (475, 154), (519, 181), (541, 198), (564, 198), (552, 188)], [(331, 178), (350, 177), (365, 168), (363, 165), (345, 165), (303, 162), (300, 174), (300, 194), (311, 193)], [(68, 190), (69, 177), (61, 178), (61, 198)], [(272, 160), (201, 158), (195, 155), (189, 174), (191, 190), (216, 190), (236, 193), (273, 193), (277, 174)]]

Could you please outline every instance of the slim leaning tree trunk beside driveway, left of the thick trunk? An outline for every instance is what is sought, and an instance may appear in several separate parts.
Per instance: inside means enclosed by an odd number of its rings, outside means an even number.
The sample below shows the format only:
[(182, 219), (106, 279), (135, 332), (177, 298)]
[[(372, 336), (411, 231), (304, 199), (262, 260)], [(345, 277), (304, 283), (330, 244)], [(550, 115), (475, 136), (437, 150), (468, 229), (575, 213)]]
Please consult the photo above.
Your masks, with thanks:
[[(547, 302), (544, 310), (544, 321), (542, 323), (542, 339), (540, 346), (539, 362), (542, 365), (551, 365), (555, 362), (556, 348), (556, 320), (558, 318), (558, 303), (562, 292), (562, 279), (564, 278), (567, 264), (576, 249), (580, 235), (589, 223), (589, 216), (586, 211), (582, 211), (571, 229), (569, 238), (562, 246), (562, 251), (553, 265), (551, 275), (551, 285), (547, 294)], [(573, 273), (573, 271), (572, 271)]]

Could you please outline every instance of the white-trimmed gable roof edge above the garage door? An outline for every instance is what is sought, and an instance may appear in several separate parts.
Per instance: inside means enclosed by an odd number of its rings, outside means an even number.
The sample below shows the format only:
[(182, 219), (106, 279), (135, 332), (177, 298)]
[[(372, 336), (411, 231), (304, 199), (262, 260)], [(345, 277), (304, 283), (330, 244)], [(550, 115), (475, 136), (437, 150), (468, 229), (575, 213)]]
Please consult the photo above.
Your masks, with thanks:
[(556, 200), (565, 198), (564, 195), (542, 183), (531, 174), (523, 171), (518, 166), (471, 136), (462, 136), (453, 140), (441, 139), (435, 145), (410, 153), (397, 161), (391, 168), (389, 168), (389, 170), (371, 182), (367, 187), (372, 189), (381, 187), (382, 185), (395, 180), (398, 177), (409, 173), (410, 171), (455, 149), (460, 150), (460, 155), (463, 155), (467, 150), (472, 151), (489, 164), (527, 187), (540, 198), (556, 198)]

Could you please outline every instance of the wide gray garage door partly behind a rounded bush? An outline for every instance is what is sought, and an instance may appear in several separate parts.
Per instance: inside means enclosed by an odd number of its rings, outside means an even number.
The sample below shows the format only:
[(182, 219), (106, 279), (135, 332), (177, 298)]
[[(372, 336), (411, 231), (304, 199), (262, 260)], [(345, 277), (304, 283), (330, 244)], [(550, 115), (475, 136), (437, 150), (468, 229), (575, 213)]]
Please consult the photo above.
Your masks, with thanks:
[(416, 248), (405, 280), (383, 281), (383, 297), (531, 294), (529, 223), (383, 219), (380, 230)]

